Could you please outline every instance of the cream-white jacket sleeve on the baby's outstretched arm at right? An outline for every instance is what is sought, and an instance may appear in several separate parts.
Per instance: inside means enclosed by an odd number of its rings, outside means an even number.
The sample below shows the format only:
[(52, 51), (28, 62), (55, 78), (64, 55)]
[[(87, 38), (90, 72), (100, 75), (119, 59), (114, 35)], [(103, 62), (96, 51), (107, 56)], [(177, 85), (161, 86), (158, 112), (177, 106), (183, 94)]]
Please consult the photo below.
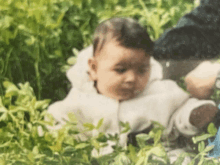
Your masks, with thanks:
[[(164, 84), (163, 89), (159, 89), (159, 85), (155, 83), (154, 85), (157, 86), (156, 90), (164, 90), (167, 98), (170, 98), (170, 101), (166, 101), (166, 104), (163, 106), (164, 111), (170, 108), (170, 110), (167, 110), (167, 113), (170, 113), (170, 118), (164, 134), (169, 135), (171, 139), (175, 139), (179, 134), (194, 136), (199, 133), (200, 130), (190, 123), (190, 115), (195, 108), (202, 105), (212, 104), (215, 106), (214, 101), (190, 98), (189, 95), (172, 80), (163, 80), (161, 83)], [(155, 91), (152, 91), (152, 93), (155, 93)], [(168, 103), (171, 106), (166, 108)], [(165, 116), (165, 114), (163, 114), (163, 116)], [(160, 119), (160, 122), (161, 121), (162, 118)]]

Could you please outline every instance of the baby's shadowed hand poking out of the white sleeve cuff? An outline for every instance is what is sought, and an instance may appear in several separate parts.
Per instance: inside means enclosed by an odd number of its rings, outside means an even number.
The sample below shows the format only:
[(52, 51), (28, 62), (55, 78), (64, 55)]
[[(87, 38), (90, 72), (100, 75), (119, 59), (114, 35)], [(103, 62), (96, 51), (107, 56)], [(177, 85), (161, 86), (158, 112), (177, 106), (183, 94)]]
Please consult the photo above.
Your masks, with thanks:
[(190, 123), (199, 129), (206, 129), (214, 121), (218, 108), (212, 104), (205, 104), (195, 108), (190, 115)]

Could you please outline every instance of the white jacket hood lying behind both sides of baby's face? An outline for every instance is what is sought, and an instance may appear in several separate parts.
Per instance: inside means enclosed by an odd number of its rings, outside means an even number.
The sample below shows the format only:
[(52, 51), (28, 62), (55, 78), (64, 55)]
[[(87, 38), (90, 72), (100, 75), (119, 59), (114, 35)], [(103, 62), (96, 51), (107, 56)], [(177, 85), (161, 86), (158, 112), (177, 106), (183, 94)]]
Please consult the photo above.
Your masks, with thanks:
[[(93, 87), (93, 81), (88, 75), (88, 59), (93, 56), (93, 47), (89, 46), (83, 49), (77, 57), (77, 62), (67, 71), (67, 78), (71, 82), (72, 87), (78, 88), (84, 92), (96, 91)], [(153, 57), (150, 59), (151, 73), (148, 84), (155, 80), (162, 79), (162, 66)]]

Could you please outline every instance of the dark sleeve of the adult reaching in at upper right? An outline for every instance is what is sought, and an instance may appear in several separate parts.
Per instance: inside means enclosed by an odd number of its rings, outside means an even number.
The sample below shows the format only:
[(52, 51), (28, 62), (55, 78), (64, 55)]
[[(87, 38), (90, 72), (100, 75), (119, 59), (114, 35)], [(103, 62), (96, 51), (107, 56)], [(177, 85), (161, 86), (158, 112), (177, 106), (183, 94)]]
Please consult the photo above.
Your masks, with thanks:
[(220, 1), (201, 0), (155, 42), (156, 59), (214, 58), (220, 52)]

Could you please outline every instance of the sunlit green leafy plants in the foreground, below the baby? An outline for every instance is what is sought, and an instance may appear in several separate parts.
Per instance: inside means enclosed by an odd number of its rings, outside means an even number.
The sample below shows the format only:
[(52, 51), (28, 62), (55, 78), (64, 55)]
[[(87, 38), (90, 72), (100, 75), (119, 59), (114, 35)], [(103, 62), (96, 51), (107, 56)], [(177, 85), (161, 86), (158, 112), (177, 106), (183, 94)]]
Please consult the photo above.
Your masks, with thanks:
[[(51, 130), (54, 120), (46, 111), (50, 100), (37, 100), (29, 83), (19, 84), (5, 81), (5, 95), (0, 97), (0, 162), (1, 164), (97, 164), (97, 165), (145, 165), (170, 164), (169, 158), (161, 142), (164, 128), (153, 122), (154, 128), (149, 134), (136, 136), (138, 146), (131, 144), (122, 148), (119, 135), (104, 134), (99, 131), (105, 119), (97, 125), (84, 124), (79, 130), (74, 114), (59, 130)], [(44, 120), (44, 118), (47, 120)], [(129, 124), (122, 123), (120, 134), (129, 131)], [(84, 133), (97, 134), (82, 140)], [(218, 160), (209, 158), (208, 152), (213, 146), (206, 146), (205, 140), (217, 132), (213, 124), (208, 127), (209, 134), (193, 137), (198, 144), (198, 154), (183, 153), (173, 163), (181, 164), (186, 156), (192, 157), (191, 164), (216, 164)], [(111, 141), (115, 144), (113, 152), (94, 156)]]

